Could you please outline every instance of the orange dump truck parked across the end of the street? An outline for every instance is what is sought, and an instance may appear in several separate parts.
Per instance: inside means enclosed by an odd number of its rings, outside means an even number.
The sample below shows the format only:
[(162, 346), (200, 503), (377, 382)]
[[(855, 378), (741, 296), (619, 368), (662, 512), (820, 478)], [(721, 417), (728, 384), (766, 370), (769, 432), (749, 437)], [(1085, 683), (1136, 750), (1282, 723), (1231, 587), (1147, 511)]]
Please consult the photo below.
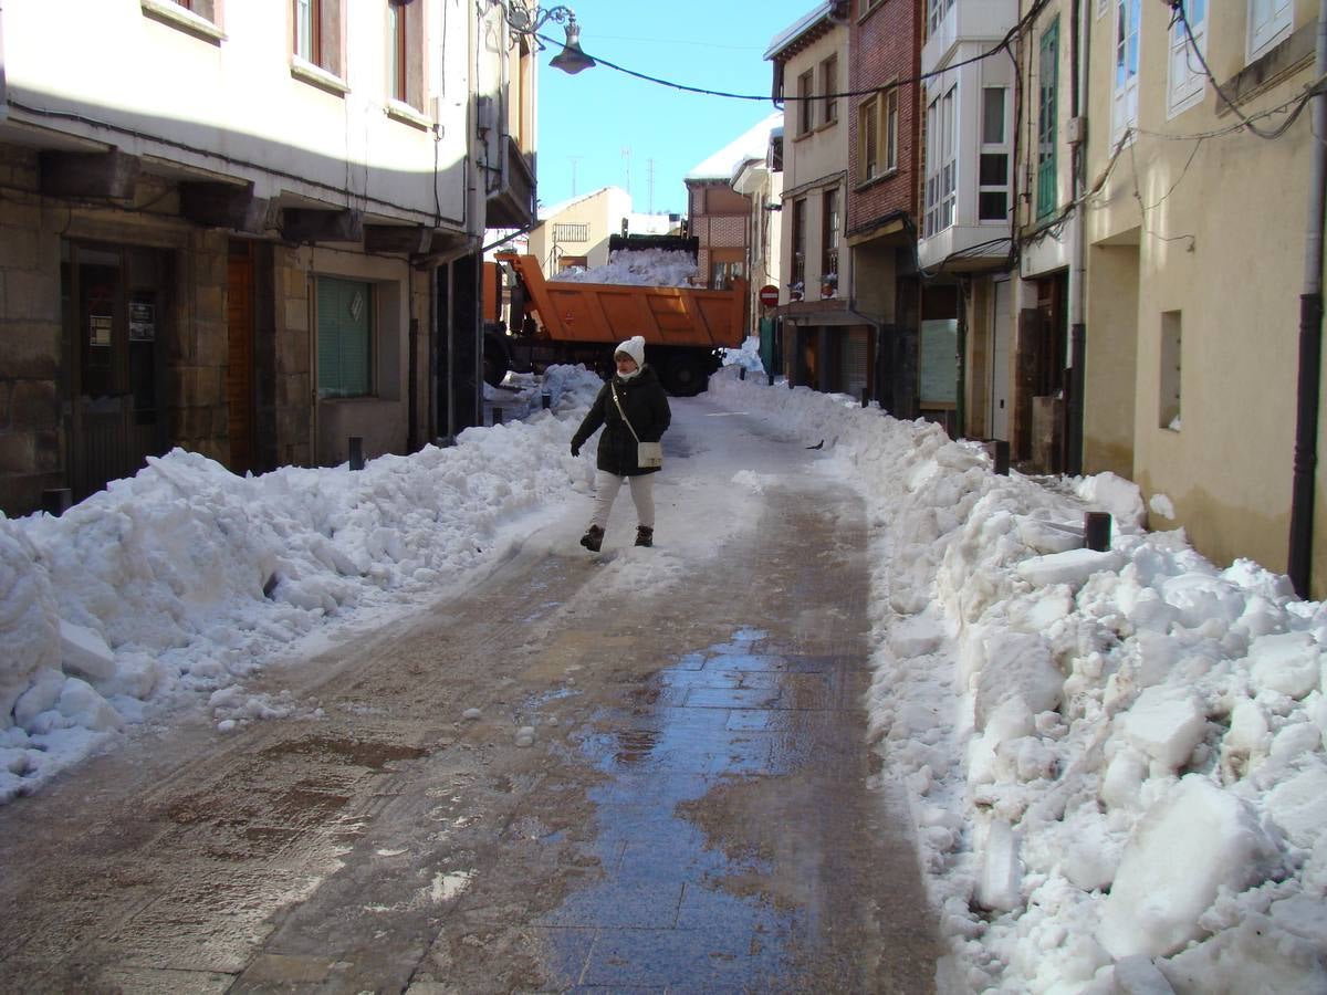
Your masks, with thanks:
[[(670, 394), (705, 390), (719, 365), (719, 349), (736, 349), (746, 337), (747, 288), (734, 280), (726, 291), (691, 287), (634, 287), (544, 280), (539, 260), (499, 252), (496, 265), (511, 288), (510, 332), (484, 336), (484, 375), (499, 379), (508, 369), (537, 369), (553, 362), (584, 362), (612, 369), (612, 346), (632, 336), (645, 338), (645, 358)], [(486, 317), (500, 297), (499, 273), (486, 275)], [(492, 354), (492, 356), (490, 356)]]

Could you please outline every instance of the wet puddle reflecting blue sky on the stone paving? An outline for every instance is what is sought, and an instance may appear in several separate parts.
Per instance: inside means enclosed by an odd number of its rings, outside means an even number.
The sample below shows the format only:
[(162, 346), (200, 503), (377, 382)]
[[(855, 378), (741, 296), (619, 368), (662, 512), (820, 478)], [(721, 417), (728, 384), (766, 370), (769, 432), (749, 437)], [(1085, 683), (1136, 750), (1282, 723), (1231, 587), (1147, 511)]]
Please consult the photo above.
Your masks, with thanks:
[(807, 914), (750, 823), (763, 821), (755, 795), (778, 792), (771, 767), (799, 764), (779, 703), (802, 667), (760, 651), (764, 638), (739, 630), (686, 654), (592, 720), (580, 748), (606, 775), (589, 792), (602, 873), (543, 922), (549, 980), (743, 991), (794, 976)]

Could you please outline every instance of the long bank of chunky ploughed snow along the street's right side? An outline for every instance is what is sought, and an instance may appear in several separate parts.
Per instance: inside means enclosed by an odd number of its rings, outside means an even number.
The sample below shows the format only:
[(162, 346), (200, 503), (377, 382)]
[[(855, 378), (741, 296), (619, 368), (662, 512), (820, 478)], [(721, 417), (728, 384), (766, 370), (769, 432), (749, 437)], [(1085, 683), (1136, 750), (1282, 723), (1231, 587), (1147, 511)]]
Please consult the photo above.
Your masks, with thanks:
[[(1327, 610), (936, 426), (735, 374), (871, 507), (872, 735), (950, 938), (941, 984), (1327, 991)], [(1082, 549), (1087, 509), (1113, 517)]]

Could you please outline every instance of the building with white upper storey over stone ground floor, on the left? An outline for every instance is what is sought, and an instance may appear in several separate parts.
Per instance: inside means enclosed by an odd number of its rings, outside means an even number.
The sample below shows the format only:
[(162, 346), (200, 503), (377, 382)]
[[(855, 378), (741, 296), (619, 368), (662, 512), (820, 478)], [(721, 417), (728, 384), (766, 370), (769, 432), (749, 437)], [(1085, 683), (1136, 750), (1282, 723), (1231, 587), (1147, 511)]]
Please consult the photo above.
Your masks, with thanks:
[(472, 423), (470, 260), (533, 208), (502, 9), (73, 7), (0, 12), (0, 508), (175, 446), (245, 472)]

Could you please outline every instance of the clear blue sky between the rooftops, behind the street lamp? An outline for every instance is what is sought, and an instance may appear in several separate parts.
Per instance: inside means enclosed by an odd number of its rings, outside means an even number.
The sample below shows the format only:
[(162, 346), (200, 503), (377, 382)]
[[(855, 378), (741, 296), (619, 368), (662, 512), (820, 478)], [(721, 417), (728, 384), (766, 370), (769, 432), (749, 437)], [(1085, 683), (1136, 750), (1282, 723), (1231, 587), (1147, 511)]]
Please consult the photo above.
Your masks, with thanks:
[[(540, 53), (540, 203), (618, 186), (630, 190), (637, 211), (685, 214), (682, 178), (775, 110), (768, 100), (772, 65), (762, 56), (775, 34), (817, 3), (577, 0), (569, 7), (591, 56), (673, 82), (766, 97), (689, 94), (606, 66), (568, 76), (548, 68), (560, 48)], [(563, 37), (552, 21), (540, 33)]]

